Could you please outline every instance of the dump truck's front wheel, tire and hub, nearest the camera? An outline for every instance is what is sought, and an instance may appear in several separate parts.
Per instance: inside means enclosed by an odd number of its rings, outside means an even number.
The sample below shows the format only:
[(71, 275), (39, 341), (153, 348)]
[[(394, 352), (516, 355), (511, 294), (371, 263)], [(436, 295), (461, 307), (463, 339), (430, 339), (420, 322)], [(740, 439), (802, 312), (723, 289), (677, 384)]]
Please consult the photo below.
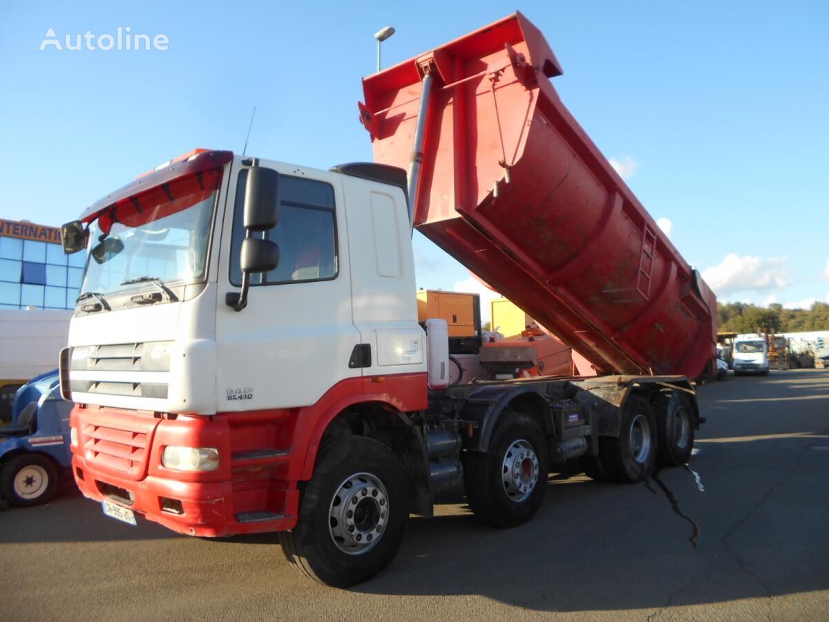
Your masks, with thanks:
[(297, 526), (279, 539), (288, 561), (320, 583), (354, 586), (388, 566), (409, 518), (400, 461), (377, 440), (351, 436), (318, 459)]

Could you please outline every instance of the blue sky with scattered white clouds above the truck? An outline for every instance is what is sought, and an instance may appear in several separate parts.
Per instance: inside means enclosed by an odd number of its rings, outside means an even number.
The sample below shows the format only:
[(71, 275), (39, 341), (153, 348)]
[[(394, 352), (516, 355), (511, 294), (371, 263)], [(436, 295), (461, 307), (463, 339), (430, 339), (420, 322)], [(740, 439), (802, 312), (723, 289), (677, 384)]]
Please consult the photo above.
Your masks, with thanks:
[[(120, 5), (120, 6), (119, 6)], [(0, 217), (60, 225), (191, 148), (328, 168), (371, 159), (361, 76), (515, 10), (502, 2), (0, 5)], [(562, 100), (720, 299), (829, 302), (829, 2), (524, 2)], [(46, 31), (166, 51), (38, 51)], [(668, 222), (669, 221), (669, 222)], [(418, 285), (474, 289), (415, 236)]]

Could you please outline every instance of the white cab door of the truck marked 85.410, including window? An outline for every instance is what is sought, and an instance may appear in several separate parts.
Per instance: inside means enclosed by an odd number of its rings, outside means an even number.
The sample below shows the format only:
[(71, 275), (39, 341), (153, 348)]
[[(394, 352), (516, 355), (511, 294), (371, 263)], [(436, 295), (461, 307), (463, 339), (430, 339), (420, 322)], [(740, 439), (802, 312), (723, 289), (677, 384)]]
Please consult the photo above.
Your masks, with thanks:
[(349, 367), (360, 333), (351, 279), (342, 182), (335, 173), (265, 163), (280, 173), (279, 223), (263, 235), (279, 245), (279, 265), (251, 275), (237, 312), (242, 211), (249, 168), (234, 166), (222, 224), (216, 309), (217, 411), (310, 406), (332, 386), (360, 377)]

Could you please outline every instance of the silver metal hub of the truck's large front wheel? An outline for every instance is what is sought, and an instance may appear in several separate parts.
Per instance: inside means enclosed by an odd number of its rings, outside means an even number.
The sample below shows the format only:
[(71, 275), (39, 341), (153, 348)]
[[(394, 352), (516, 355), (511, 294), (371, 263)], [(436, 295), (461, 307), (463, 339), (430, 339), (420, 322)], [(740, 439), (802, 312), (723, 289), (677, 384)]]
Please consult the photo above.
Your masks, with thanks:
[(339, 485), (328, 512), (328, 529), (337, 547), (361, 555), (377, 542), (389, 517), (389, 497), (374, 475), (357, 473)]

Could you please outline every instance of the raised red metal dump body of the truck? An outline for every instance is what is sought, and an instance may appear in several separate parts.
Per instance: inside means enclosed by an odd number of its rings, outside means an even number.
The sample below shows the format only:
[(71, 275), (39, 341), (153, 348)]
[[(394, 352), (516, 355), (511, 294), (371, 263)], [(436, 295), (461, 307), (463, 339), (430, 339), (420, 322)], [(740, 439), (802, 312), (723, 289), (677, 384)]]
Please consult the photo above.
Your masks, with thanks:
[(434, 77), (414, 225), (599, 372), (708, 374), (716, 299), (561, 103), (526, 17), (363, 80), (378, 163), (408, 168)]

